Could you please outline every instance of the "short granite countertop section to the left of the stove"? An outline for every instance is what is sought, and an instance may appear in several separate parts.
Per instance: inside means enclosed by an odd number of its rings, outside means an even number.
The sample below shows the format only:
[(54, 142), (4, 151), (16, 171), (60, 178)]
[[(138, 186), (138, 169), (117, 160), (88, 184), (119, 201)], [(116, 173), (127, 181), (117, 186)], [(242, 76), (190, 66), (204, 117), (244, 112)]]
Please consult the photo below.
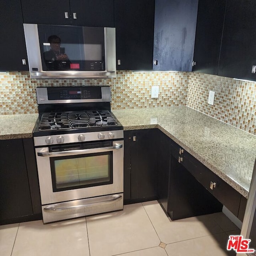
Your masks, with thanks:
[(0, 116), (0, 140), (30, 138), (38, 114)]

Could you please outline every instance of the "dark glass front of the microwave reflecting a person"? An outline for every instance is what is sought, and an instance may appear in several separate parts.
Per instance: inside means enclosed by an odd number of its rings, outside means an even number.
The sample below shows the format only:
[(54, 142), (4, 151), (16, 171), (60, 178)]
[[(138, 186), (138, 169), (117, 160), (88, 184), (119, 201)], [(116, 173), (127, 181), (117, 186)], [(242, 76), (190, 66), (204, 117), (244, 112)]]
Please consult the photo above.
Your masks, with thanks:
[(44, 71), (105, 70), (104, 28), (38, 25)]

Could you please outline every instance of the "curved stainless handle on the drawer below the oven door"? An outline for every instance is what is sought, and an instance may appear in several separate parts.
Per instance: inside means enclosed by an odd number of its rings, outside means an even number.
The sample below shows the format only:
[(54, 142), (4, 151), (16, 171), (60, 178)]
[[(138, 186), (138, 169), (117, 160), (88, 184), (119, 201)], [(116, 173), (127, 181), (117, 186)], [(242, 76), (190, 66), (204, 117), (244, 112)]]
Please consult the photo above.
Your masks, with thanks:
[[(44, 212), (58, 213), (58, 212), (79, 210), (79, 209), (84, 209), (84, 208), (89, 208), (89, 207), (94, 207), (94, 206), (102, 206), (102, 205), (110, 204), (110, 203), (112, 204), (121, 199), (122, 199), (121, 195), (115, 194), (115, 195), (111, 195), (111, 196), (106, 196), (106, 199), (103, 199), (103, 200), (102, 199), (100, 199), (100, 200), (94, 199), (94, 200), (96, 200), (95, 202), (89, 202), (90, 201), (90, 199), (89, 199), (87, 204), (58, 207), (58, 203), (57, 203), (57, 204), (47, 206), (46, 208), (44, 208)], [(60, 205), (61, 204), (62, 203), (60, 203)]]

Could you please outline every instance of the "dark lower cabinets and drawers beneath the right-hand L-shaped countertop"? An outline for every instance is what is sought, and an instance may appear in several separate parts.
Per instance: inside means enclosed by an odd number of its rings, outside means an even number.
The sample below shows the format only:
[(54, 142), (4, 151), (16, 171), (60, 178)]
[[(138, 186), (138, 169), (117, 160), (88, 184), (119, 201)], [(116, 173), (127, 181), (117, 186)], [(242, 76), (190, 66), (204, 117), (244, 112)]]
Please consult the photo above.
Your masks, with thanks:
[(246, 198), (160, 130), (124, 131), (124, 204), (155, 199), (172, 220), (223, 205), (242, 220), (246, 207)]

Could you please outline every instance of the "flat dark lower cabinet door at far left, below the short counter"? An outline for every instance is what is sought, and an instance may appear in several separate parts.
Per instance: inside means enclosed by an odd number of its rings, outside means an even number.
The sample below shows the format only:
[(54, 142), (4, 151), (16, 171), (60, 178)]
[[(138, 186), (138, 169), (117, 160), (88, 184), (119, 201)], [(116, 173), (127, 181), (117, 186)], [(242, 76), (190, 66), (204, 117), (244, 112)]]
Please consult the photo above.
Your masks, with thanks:
[(22, 139), (0, 140), (0, 220), (32, 215)]

